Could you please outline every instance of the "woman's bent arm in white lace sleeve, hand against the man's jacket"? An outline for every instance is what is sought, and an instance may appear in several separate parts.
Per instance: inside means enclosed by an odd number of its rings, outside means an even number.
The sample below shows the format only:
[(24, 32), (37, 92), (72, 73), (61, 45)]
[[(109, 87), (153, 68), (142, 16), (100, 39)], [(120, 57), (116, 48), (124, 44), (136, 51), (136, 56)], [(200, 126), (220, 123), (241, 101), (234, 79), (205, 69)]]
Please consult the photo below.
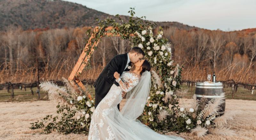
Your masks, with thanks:
[(114, 77), (116, 78), (116, 82), (120, 85), (120, 87), (123, 89), (124, 92), (129, 92), (132, 90), (134, 86), (136, 86), (139, 82), (139, 79), (135, 80), (130, 80), (127, 84), (125, 84), (121, 79), (120, 79), (120, 74), (117, 72), (114, 73)]

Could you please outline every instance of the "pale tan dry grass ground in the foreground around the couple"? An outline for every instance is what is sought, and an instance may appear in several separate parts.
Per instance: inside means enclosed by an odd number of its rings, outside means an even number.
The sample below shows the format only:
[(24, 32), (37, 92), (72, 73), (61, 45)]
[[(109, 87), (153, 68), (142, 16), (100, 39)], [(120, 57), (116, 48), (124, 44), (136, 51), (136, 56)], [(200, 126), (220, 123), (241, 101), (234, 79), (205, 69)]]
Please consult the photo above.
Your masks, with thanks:
[[(188, 106), (192, 99), (181, 99), (181, 106)], [(53, 101), (34, 102), (0, 102), (0, 139), (4, 140), (87, 140), (83, 134), (39, 134), (42, 129), (31, 130), (30, 122), (34, 122), (46, 115), (56, 115), (56, 103)], [(122, 108), (122, 104), (121, 104)], [(209, 134), (198, 138), (191, 133), (170, 132), (168, 135), (181, 136), (186, 140), (254, 140), (256, 139), (256, 101), (226, 100), (226, 111), (239, 111), (233, 121), (231, 129), (236, 131), (236, 136), (216, 136)]]

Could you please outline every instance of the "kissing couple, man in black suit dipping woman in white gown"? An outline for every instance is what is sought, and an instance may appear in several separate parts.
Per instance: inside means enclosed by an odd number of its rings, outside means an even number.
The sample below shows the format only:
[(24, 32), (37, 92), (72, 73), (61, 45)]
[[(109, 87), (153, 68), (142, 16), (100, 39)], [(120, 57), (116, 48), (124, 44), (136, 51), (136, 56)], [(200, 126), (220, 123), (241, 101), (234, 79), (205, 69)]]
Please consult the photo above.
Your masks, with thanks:
[[(101, 72), (93, 85), (95, 110), (88, 140), (184, 140), (161, 135), (137, 120), (151, 88), (151, 66), (144, 56), (140, 47), (133, 47), (129, 53), (116, 55)], [(120, 112), (125, 94), (127, 101)]]

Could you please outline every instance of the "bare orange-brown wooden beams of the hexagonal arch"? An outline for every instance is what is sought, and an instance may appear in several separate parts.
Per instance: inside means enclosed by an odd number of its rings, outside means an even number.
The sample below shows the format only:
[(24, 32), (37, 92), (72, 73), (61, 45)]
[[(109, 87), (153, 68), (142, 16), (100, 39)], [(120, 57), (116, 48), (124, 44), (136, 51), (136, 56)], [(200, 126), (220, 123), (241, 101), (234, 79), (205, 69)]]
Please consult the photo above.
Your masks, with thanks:
[[(104, 33), (104, 37), (118, 37), (120, 36), (120, 34), (116, 34), (114, 35), (113, 33), (107, 32), (109, 30), (112, 30), (113, 27), (109, 26), (107, 28), (105, 28), (105, 33)], [(68, 81), (71, 83), (72, 86), (77, 87), (77, 85), (79, 87), (81, 87), (83, 90), (85, 90), (84, 84), (79, 80), (79, 76), (82, 74), (84, 67), (86, 66), (86, 64), (88, 63), (91, 55), (86, 55), (89, 46), (91, 46), (91, 40), (93, 38), (95, 38), (95, 34), (99, 31), (99, 27), (95, 27), (93, 30), (93, 33), (90, 37), (90, 39), (88, 40), (88, 42), (86, 43), (83, 52), (81, 53), (80, 57), (78, 58), (76, 65), (74, 66), (72, 72), (70, 73), (69, 77), (68, 77)], [(134, 34), (130, 34), (130, 36), (134, 36)], [(94, 44), (91, 47), (91, 51), (88, 54), (92, 54), (94, 51), (94, 47), (96, 47), (99, 43), (98, 41), (95, 41)], [(88, 97), (92, 100), (91, 95), (89, 94)]]

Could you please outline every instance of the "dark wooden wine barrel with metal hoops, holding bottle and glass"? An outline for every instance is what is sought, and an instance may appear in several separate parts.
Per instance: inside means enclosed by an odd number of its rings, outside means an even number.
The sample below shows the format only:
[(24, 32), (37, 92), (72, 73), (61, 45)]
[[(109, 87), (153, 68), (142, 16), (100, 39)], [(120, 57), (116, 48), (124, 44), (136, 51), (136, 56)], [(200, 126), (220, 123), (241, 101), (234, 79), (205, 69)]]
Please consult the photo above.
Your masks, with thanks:
[[(223, 86), (221, 82), (217, 83), (202, 83), (197, 82), (196, 83), (196, 99), (200, 100), (202, 97), (207, 98), (208, 101), (210, 101), (212, 98), (220, 98), (220, 94), (223, 93)], [(225, 101), (225, 99), (224, 99)], [(225, 105), (226, 102), (220, 105), (222, 110), (218, 112), (218, 114), (223, 115), (225, 112)]]

